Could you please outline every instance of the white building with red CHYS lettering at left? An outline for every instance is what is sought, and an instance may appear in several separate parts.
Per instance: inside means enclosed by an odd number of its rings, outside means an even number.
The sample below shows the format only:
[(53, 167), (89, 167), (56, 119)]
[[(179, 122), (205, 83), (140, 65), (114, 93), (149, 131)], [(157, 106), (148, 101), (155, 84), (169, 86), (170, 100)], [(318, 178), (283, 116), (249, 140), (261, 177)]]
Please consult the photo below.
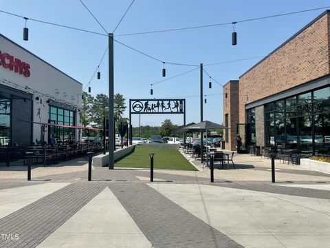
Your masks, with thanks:
[[(51, 48), (50, 48), (51, 49)], [(68, 58), (63, 58), (68, 59)], [(83, 85), (0, 34), (0, 144), (78, 138)], [(40, 125), (55, 123), (67, 127)]]

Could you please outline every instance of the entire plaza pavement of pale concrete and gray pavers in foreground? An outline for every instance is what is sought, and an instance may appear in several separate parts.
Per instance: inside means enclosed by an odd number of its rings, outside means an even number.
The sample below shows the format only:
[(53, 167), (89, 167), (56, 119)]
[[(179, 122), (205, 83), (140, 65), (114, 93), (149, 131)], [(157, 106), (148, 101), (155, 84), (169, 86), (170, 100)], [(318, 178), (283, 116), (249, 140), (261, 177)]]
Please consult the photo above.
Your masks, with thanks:
[[(0, 167), (0, 247), (329, 247), (330, 175), (235, 154), (238, 169)], [(22, 179), (24, 178), (24, 179)]]

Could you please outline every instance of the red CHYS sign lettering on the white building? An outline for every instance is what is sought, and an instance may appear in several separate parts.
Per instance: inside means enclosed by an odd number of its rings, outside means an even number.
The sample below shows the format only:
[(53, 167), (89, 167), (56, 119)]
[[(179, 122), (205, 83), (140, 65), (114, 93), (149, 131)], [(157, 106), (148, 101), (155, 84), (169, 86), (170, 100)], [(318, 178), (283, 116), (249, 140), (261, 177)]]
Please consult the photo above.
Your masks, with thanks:
[(6, 52), (0, 51), (0, 65), (5, 69), (13, 70), (15, 73), (23, 74), (25, 77), (29, 77), (31, 74), (28, 63), (22, 62)]

